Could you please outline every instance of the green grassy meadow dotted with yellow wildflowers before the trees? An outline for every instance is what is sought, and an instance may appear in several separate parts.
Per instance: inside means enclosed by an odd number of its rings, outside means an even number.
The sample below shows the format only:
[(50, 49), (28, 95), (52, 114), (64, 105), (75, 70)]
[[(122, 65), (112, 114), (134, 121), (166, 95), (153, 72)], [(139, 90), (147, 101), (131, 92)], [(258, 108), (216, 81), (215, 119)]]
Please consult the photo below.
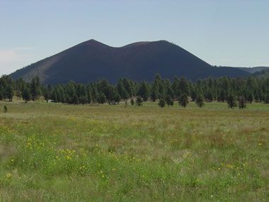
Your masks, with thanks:
[(0, 110), (0, 201), (269, 200), (263, 103)]

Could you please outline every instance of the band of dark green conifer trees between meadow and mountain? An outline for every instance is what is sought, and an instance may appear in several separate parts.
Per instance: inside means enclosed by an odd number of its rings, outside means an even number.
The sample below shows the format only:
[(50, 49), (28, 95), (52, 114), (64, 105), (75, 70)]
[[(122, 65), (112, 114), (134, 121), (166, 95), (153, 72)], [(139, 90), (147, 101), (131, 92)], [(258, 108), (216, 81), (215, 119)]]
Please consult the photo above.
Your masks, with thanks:
[(43, 97), (46, 101), (70, 104), (109, 103), (115, 104), (131, 99), (131, 103), (142, 105), (143, 101), (159, 101), (159, 106), (173, 106), (174, 101), (185, 107), (189, 101), (195, 101), (199, 107), (204, 102), (219, 101), (228, 103), (233, 108), (244, 108), (246, 102), (269, 103), (269, 78), (220, 77), (198, 79), (191, 82), (184, 77), (174, 77), (173, 81), (162, 79), (156, 74), (153, 82), (135, 82), (121, 78), (117, 84), (110, 84), (106, 79), (91, 84), (69, 82), (55, 86), (41, 84), (39, 77), (30, 82), (11, 77), (0, 78), (0, 100), (12, 101), (13, 96), (25, 103)]

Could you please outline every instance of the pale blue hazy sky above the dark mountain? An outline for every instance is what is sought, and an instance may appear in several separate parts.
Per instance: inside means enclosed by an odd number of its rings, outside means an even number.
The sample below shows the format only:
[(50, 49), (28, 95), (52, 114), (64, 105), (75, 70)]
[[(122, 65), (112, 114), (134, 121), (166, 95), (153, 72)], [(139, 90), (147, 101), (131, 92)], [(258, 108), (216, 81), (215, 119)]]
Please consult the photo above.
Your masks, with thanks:
[(217, 66), (269, 66), (267, 0), (0, 0), (0, 76), (86, 40), (168, 40)]

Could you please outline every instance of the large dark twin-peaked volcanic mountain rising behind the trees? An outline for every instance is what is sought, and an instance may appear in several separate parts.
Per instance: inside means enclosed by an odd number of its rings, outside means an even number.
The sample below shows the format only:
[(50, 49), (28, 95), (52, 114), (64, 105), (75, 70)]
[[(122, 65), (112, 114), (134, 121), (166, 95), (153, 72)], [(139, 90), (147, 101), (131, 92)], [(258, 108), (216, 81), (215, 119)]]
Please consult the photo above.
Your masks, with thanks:
[(61, 84), (70, 80), (90, 83), (98, 79), (117, 82), (120, 77), (151, 81), (155, 74), (173, 79), (186, 77), (242, 77), (249, 73), (231, 67), (212, 67), (207, 62), (166, 40), (139, 42), (123, 47), (110, 47), (88, 40), (44, 60), (18, 69), (11, 78), (29, 81), (39, 76), (45, 84)]

